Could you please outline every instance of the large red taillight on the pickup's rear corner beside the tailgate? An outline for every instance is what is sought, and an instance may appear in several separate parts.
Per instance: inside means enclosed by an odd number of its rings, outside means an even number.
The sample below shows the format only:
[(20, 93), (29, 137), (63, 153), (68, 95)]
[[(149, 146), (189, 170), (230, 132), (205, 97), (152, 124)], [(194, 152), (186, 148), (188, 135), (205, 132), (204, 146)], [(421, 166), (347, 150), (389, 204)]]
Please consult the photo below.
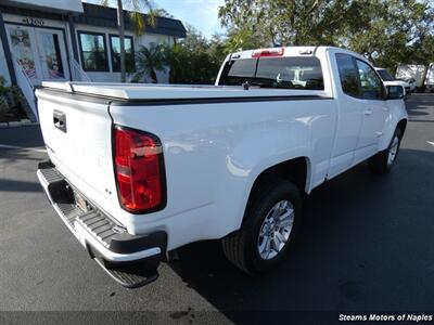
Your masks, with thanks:
[(164, 208), (163, 151), (155, 135), (115, 126), (114, 164), (124, 209), (143, 213)]

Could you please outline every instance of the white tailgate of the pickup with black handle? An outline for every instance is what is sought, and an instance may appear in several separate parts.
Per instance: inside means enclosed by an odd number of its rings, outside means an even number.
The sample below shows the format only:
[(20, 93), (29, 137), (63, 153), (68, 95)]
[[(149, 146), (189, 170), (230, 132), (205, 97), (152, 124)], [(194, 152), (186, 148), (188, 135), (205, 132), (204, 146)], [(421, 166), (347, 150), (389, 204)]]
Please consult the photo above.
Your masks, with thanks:
[(50, 89), (36, 95), (43, 141), (56, 169), (106, 212), (118, 209), (108, 101)]

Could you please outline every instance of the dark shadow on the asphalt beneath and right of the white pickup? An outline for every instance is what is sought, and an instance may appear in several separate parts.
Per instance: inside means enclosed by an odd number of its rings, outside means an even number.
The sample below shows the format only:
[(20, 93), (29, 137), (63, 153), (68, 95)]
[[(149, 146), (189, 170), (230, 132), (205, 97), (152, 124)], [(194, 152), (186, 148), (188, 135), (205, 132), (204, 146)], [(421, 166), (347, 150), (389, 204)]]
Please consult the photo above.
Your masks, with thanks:
[(237, 323), (245, 311), (431, 310), (432, 180), (434, 153), (401, 150), (388, 176), (362, 164), (323, 184), (286, 260), (263, 277), (232, 266), (218, 240), (181, 248), (169, 265)]

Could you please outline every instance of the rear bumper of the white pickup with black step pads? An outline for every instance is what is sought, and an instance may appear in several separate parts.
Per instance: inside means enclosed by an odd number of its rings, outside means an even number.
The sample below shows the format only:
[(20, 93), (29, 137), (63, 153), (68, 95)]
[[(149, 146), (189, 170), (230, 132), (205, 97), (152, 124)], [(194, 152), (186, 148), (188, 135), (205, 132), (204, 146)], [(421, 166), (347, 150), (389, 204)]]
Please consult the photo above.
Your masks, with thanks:
[[(148, 280), (156, 278), (156, 269), (164, 260), (167, 247), (165, 232), (131, 235), (122, 224), (80, 194), (88, 207), (87, 211), (84, 211), (75, 200), (77, 190), (50, 161), (39, 164), (37, 176), (62, 221), (112, 277), (127, 287), (138, 286), (136, 283), (123, 283), (113, 274), (128, 272), (128, 268), (131, 266), (129, 269), (139, 270), (141, 276), (146, 274)], [(129, 275), (127, 277), (130, 277)]]

